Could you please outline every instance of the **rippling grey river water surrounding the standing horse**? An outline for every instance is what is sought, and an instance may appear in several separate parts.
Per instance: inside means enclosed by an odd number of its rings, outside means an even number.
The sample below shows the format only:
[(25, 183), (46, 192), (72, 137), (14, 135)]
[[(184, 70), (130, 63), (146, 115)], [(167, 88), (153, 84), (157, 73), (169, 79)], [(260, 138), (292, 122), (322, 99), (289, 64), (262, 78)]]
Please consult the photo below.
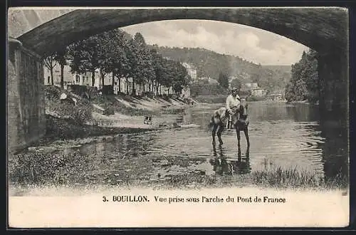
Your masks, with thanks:
[[(112, 172), (135, 169), (137, 177), (150, 175), (143, 177), (148, 181), (152, 176), (162, 178), (164, 175), (184, 174), (187, 170), (198, 170), (202, 174), (223, 174), (224, 170), (249, 174), (271, 167), (295, 168), (326, 178), (347, 174), (347, 138), (342, 137), (339, 130), (325, 129), (320, 125), (318, 106), (249, 103), (251, 147), (247, 151), (246, 139), (241, 132), (239, 156), (234, 130), (224, 130), (224, 145), (221, 147), (211, 145), (207, 124), (211, 113), (221, 105), (188, 108), (182, 115), (183, 123), (194, 125), (120, 135), (110, 141), (83, 145), (76, 151), (94, 156), (98, 160), (98, 169)], [(172, 158), (181, 163), (175, 164)], [(182, 161), (187, 164), (182, 164)], [(229, 163), (225, 164), (225, 169), (221, 161)]]

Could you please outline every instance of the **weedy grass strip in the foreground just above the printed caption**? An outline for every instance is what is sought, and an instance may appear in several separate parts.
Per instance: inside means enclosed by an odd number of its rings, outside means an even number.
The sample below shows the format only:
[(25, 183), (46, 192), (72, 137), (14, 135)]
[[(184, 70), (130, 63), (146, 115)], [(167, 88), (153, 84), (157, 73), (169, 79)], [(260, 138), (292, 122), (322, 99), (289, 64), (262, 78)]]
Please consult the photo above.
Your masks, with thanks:
[[(316, 174), (297, 169), (253, 171), (250, 174), (219, 176), (190, 169), (189, 165), (204, 158), (141, 157), (117, 158), (82, 155), (80, 152), (27, 152), (9, 160), (9, 183), (14, 189), (23, 187), (95, 187), (129, 186), (184, 189), (204, 187), (263, 187), (280, 189), (347, 189), (347, 177), (338, 175), (325, 180)], [(110, 163), (111, 162), (111, 163)], [(182, 172), (167, 173), (162, 166), (185, 167)], [(156, 167), (155, 167), (156, 166)], [(158, 168), (157, 168), (158, 167)], [(175, 168), (174, 168), (175, 169)], [(177, 168), (178, 169), (178, 168)]]

